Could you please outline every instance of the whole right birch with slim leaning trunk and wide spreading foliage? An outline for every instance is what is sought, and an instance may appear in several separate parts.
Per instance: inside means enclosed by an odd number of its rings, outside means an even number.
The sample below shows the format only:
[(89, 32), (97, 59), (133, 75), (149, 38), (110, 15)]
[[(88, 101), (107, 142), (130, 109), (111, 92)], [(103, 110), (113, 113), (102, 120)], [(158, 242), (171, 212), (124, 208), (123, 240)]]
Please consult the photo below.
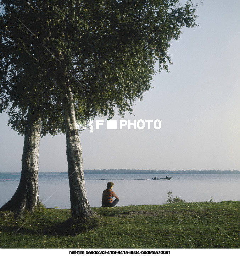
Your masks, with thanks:
[[(8, 12), (11, 33), (15, 33), (15, 42), (19, 40), (15, 51), (24, 53), (24, 65), (34, 61), (42, 78), (35, 98), (41, 109), (41, 134), (66, 134), (72, 216), (91, 216), (76, 116), (112, 118), (115, 108), (121, 116), (132, 113), (134, 100), (142, 99), (151, 88), (156, 61), (159, 71), (168, 71), (171, 40), (178, 39), (183, 26), (196, 26), (196, 7), (191, 1), (179, 6), (178, 0), (8, 2), (30, 24), (31, 33), (19, 28)], [(8, 27), (6, 22), (4, 26)], [(17, 67), (15, 60), (10, 61), (11, 51), (7, 56), (9, 67)], [(34, 92), (32, 85), (30, 91)], [(57, 113), (55, 118), (52, 106), (61, 106), (61, 117)], [(14, 111), (10, 122), (17, 129), (16, 123), (24, 118)]]

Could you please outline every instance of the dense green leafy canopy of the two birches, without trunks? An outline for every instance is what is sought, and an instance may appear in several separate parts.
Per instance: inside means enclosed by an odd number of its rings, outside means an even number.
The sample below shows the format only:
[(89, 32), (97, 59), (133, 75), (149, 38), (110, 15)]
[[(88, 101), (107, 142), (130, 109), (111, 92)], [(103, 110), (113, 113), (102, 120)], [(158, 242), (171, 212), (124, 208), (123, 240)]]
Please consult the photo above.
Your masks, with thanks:
[[(3, 1), (2, 1), (3, 2)], [(155, 62), (168, 71), (168, 49), (183, 26), (194, 27), (191, 1), (10, 0), (0, 17), (0, 110), (24, 134), (29, 106), (41, 113), (41, 134), (65, 132), (65, 75), (78, 119), (132, 112), (151, 88)]]

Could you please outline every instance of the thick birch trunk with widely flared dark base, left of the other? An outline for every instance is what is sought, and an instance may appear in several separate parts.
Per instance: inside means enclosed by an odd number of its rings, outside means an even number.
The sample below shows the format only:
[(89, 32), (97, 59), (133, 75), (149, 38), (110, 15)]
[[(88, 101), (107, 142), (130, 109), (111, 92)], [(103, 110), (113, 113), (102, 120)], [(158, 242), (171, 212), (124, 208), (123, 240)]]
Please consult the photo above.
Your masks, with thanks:
[(24, 209), (34, 212), (39, 203), (38, 194), (38, 155), (40, 143), (40, 115), (28, 111), (28, 124), (24, 136), (22, 154), (22, 172), (18, 188), (12, 198), (0, 208), (0, 211), (16, 212), (16, 218)]

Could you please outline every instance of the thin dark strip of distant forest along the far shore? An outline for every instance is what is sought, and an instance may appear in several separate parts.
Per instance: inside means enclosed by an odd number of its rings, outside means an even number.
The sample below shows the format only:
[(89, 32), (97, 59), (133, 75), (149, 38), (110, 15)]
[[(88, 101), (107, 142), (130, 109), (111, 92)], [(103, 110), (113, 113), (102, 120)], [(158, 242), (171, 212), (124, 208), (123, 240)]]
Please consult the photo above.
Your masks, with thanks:
[[(104, 169), (104, 170), (84, 170), (85, 174), (240, 174), (238, 170), (131, 170), (131, 169)], [(0, 173), (0, 175), (14, 175), (20, 173)], [(58, 174), (68, 174), (67, 171), (59, 172), (40, 172), (39, 174), (49, 174), (49, 175), (58, 175)]]

